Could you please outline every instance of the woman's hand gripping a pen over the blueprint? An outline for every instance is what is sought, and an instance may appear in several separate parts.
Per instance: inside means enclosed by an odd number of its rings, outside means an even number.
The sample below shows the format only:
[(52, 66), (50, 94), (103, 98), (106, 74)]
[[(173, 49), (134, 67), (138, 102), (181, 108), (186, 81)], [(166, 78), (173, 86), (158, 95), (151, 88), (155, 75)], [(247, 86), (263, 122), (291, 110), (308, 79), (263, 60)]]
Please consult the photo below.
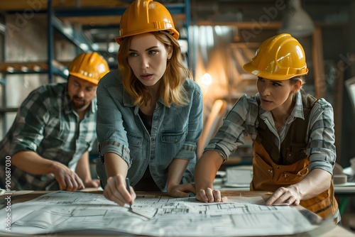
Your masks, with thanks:
[(129, 204), (129, 202), (136, 199), (136, 193), (133, 190), (133, 187), (129, 187), (131, 194), (126, 189), (126, 180), (122, 175), (114, 175), (107, 179), (107, 184), (104, 189), (104, 197), (107, 199), (116, 202), (120, 206), (124, 204)]

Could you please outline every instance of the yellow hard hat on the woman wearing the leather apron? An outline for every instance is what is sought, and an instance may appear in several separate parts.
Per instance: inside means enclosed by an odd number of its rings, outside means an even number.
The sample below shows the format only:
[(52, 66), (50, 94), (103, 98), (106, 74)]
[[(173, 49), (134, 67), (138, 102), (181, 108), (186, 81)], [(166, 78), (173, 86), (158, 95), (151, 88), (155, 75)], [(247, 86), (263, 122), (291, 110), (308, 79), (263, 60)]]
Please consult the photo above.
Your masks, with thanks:
[(285, 80), (308, 73), (305, 51), (290, 34), (283, 33), (261, 43), (244, 70), (266, 79)]

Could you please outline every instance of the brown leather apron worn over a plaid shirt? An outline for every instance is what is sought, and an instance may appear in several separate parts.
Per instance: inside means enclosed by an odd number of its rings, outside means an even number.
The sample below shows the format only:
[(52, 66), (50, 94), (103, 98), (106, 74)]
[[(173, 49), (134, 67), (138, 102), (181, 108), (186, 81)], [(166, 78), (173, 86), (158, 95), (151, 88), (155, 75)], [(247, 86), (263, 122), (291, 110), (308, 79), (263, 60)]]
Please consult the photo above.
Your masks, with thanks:
[[(259, 117), (258, 135), (253, 141), (254, 158), (251, 190), (275, 192), (280, 187), (288, 187), (290, 184), (300, 182), (308, 174), (310, 160), (305, 153), (306, 144), (304, 144), (304, 140), (308, 116), (315, 100), (308, 97), (302, 99), (304, 99), (305, 120), (298, 118), (297, 121), (296, 118), (291, 124), (280, 152), (273, 144), (273, 133)], [(308, 104), (307, 99), (310, 102)], [(300, 205), (322, 218), (334, 216), (337, 213), (338, 204), (334, 197), (333, 182), (329, 189), (311, 199), (300, 201)]]

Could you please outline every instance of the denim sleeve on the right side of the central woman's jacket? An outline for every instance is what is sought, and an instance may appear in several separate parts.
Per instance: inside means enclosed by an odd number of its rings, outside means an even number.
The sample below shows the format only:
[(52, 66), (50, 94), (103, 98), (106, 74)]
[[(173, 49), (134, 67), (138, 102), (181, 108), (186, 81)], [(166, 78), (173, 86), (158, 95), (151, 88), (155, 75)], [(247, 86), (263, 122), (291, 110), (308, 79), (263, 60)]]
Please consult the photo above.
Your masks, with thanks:
[(197, 140), (200, 138), (203, 128), (203, 99), (200, 87), (196, 85), (195, 92), (192, 97), (192, 105), (190, 107), (190, 116), (187, 126), (187, 135), (185, 143), (183, 143), (175, 158), (192, 160), (196, 158), (195, 150), (197, 148)]

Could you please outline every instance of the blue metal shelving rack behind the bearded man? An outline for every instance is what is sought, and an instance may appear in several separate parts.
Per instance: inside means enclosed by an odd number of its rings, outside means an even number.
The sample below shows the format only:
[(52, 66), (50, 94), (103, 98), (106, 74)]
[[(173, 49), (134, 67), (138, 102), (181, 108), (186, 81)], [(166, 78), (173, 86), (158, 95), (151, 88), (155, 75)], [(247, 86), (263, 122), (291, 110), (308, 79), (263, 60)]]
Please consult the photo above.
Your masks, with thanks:
[[(76, 4), (77, 5), (77, 4)], [(188, 31), (188, 26), (190, 26), (190, 0), (184, 0), (183, 4), (165, 4), (168, 11), (172, 15), (174, 14), (185, 14), (186, 29)], [(4, 134), (6, 133), (7, 123), (6, 123), (6, 113), (16, 112), (18, 108), (8, 108), (6, 107), (6, 75), (13, 74), (47, 74), (48, 83), (53, 82), (53, 76), (58, 75), (63, 78), (67, 78), (67, 70), (65, 65), (56, 61), (54, 59), (54, 33), (59, 33), (70, 43), (76, 46), (77, 54), (87, 51), (95, 51), (92, 48), (92, 42), (88, 38), (84, 38), (83, 34), (78, 31), (77, 28), (72, 28), (68, 31), (68, 26), (65, 26), (59, 18), (65, 17), (80, 17), (80, 16), (121, 16), (126, 7), (114, 6), (114, 7), (70, 7), (62, 9), (53, 9), (53, 1), (47, 1), (47, 9), (37, 11), (37, 13), (47, 14), (47, 31), (48, 31), (48, 59), (46, 62), (9, 62), (6, 63), (3, 56), (2, 62), (0, 62), (0, 73), (3, 75), (0, 79), (0, 84), (3, 87), (3, 106), (0, 106), (0, 118), (3, 118), (3, 129)], [(16, 13), (16, 11), (9, 11), (6, 13)], [(117, 26), (119, 29), (119, 26)], [(6, 33), (6, 24), (0, 21), (0, 34), (4, 38)], [(187, 43), (188, 33), (187, 33)], [(4, 41), (4, 40), (3, 40)], [(87, 48), (82, 48), (82, 44), (87, 45)], [(4, 48), (4, 42), (3, 42)], [(3, 50), (4, 54), (4, 50)], [(188, 56), (188, 52), (187, 52)]]

